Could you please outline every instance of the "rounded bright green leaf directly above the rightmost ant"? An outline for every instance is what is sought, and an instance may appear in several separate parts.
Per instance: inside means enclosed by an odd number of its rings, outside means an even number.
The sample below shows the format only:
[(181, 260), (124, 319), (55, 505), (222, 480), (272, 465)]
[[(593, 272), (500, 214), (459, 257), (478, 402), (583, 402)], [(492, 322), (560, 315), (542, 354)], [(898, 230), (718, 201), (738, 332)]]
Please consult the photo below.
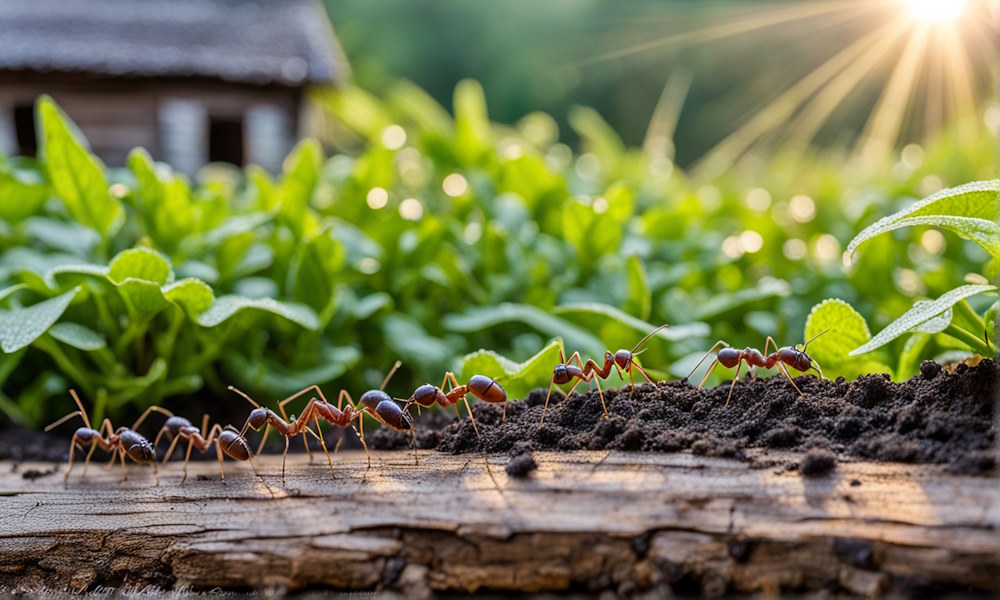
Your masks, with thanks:
[(872, 337), (865, 318), (839, 298), (820, 302), (806, 318), (804, 339), (810, 340), (817, 335), (819, 337), (809, 344), (809, 355), (831, 367), (849, 362), (851, 350)]

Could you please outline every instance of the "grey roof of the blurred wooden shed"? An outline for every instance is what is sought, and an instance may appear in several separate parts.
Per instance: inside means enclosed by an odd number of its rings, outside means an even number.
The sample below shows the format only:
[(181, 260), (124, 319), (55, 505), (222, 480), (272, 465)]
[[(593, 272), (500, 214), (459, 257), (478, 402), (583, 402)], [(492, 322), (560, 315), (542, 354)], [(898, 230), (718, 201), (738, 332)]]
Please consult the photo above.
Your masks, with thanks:
[(0, 0), (0, 70), (299, 86), (347, 69), (316, 0)]

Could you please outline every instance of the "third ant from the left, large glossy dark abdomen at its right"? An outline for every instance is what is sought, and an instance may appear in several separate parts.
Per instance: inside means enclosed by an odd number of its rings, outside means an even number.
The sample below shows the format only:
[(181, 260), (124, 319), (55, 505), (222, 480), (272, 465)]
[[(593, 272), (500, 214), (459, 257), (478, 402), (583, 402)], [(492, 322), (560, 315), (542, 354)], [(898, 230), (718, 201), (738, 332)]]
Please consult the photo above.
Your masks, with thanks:
[[(361, 399), (356, 405), (347, 390), (340, 390), (340, 393), (337, 395), (337, 406), (334, 406), (333, 403), (326, 399), (326, 396), (323, 395), (323, 390), (321, 390), (318, 385), (311, 385), (304, 390), (296, 392), (285, 398), (278, 403), (278, 407), (281, 409), (282, 414), (284, 414), (284, 406), (286, 404), (309, 392), (310, 390), (315, 390), (320, 399), (317, 400), (316, 398), (310, 398), (309, 403), (306, 404), (306, 408), (302, 411), (302, 415), (299, 417), (299, 420), (309, 422), (310, 418), (315, 419), (318, 417), (331, 425), (336, 425), (337, 427), (348, 427), (351, 426), (351, 422), (357, 418), (361, 430), (358, 431), (353, 427), (351, 428), (354, 429), (354, 433), (358, 436), (358, 439), (361, 440), (361, 445), (365, 449), (365, 455), (368, 457), (368, 468), (370, 469), (372, 466), (372, 458), (371, 453), (368, 451), (368, 444), (365, 442), (365, 430), (364, 421), (361, 416), (362, 414), (368, 413), (379, 423), (395, 429), (396, 431), (410, 431), (411, 434), (413, 432), (413, 421), (410, 418), (410, 414), (403, 411), (403, 409), (401, 409), (399, 405), (383, 391), (401, 364), (402, 363), (397, 360), (396, 364), (392, 366), (392, 369), (390, 369), (389, 373), (385, 376), (385, 379), (382, 380), (382, 385), (379, 389), (371, 390), (362, 394)], [(317, 429), (319, 428), (318, 422), (316, 427)], [(264, 432), (264, 436), (266, 439), (266, 431)], [(261, 441), (261, 447), (263, 447), (263, 440)], [(339, 448), (340, 442), (337, 443), (337, 448), (334, 449), (334, 453), (336, 453)], [(414, 444), (414, 456), (416, 456), (416, 444)]]

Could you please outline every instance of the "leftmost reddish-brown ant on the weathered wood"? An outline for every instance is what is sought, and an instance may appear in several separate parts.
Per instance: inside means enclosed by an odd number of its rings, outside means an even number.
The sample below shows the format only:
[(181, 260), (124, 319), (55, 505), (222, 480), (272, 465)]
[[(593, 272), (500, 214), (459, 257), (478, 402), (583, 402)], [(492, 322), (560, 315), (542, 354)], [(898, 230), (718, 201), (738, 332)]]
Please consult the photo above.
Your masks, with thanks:
[[(83, 409), (83, 402), (81, 402), (80, 397), (76, 395), (76, 390), (70, 390), (69, 395), (73, 397), (73, 401), (76, 402), (76, 406), (80, 410), (69, 413), (65, 417), (45, 428), (45, 431), (49, 431), (78, 415), (83, 418), (85, 426), (76, 430), (73, 434), (73, 440), (70, 442), (69, 468), (66, 469), (66, 475), (63, 477), (64, 481), (69, 479), (70, 471), (73, 470), (73, 451), (77, 447), (79, 447), (80, 450), (83, 450), (85, 446), (89, 445), (90, 452), (87, 453), (87, 458), (83, 461), (83, 477), (87, 476), (87, 465), (90, 464), (90, 457), (94, 455), (94, 450), (100, 447), (105, 452), (111, 452), (111, 462), (108, 463), (109, 466), (114, 463), (116, 458), (121, 458), (122, 473), (125, 474), (122, 481), (128, 481), (128, 471), (125, 469), (125, 456), (128, 455), (129, 458), (139, 464), (152, 464), (153, 476), (156, 478), (156, 485), (160, 485), (160, 476), (156, 471), (156, 451), (149, 443), (149, 440), (136, 433), (135, 430), (142, 424), (143, 421), (146, 420), (146, 417), (148, 417), (151, 412), (167, 411), (159, 406), (150, 406), (145, 412), (142, 413), (132, 427), (119, 427), (116, 430), (111, 426), (111, 419), (104, 419), (104, 421), (101, 422), (101, 427), (99, 429), (93, 429), (90, 426), (90, 418), (87, 417), (87, 411)], [(104, 432), (107, 432), (107, 437), (104, 437)]]

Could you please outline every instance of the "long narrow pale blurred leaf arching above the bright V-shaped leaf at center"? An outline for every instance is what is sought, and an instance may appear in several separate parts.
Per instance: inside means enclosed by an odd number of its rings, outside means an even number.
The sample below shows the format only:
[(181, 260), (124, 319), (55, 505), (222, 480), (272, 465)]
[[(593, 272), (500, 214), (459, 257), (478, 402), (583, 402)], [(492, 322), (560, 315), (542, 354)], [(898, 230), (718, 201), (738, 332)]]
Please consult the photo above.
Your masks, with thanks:
[(474, 307), (460, 314), (446, 315), (443, 323), (446, 329), (461, 333), (482, 331), (505, 323), (524, 323), (548, 337), (562, 337), (574, 351), (604, 356), (604, 344), (590, 332), (528, 304), (504, 302)]

